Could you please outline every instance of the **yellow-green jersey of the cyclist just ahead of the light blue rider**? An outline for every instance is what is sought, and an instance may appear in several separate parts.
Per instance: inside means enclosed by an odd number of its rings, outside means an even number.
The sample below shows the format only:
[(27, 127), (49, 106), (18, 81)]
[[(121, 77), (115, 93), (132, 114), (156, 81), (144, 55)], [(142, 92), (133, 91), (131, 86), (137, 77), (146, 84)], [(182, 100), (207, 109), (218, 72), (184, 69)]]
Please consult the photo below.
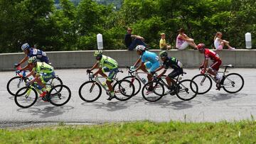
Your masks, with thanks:
[(118, 67), (117, 61), (106, 55), (102, 55), (102, 59), (98, 61), (98, 64), (99, 67), (107, 67), (110, 70)]

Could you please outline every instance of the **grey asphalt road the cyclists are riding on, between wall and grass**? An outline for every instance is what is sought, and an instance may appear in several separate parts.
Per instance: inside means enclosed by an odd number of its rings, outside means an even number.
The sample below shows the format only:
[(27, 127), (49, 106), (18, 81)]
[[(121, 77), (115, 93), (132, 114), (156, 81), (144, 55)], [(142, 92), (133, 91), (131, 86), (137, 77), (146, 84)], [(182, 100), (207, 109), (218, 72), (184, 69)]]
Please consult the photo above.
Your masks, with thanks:
[[(145, 101), (139, 93), (128, 101), (107, 101), (102, 93), (100, 99), (87, 103), (78, 96), (80, 85), (87, 81), (85, 70), (56, 70), (56, 74), (70, 87), (72, 97), (65, 106), (53, 106), (37, 101), (28, 109), (14, 103), (14, 96), (6, 90), (6, 84), (14, 72), (0, 72), (0, 123), (22, 122), (73, 122), (104, 123), (116, 121), (238, 121), (256, 116), (256, 71), (255, 69), (230, 69), (245, 79), (245, 86), (237, 94), (228, 94), (213, 87), (210, 92), (196, 96), (191, 101), (181, 101), (176, 96), (164, 96), (156, 103)], [(198, 70), (186, 70), (183, 79), (191, 79)], [(122, 78), (127, 71), (119, 74)]]

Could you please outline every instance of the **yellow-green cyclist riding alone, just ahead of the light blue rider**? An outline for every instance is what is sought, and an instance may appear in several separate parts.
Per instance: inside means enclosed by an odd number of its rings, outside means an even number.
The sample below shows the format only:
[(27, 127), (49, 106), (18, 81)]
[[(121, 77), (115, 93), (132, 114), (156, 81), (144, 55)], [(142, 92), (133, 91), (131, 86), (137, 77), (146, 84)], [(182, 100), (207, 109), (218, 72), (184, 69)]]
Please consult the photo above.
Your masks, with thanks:
[[(92, 70), (95, 70), (98, 68), (97, 72), (92, 74), (92, 77), (94, 77), (97, 74), (102, 75), (102, 77), (107, 77), (106, 84), (107, 87), (110, 89), (110, 97), (107, 100), (111, 100), (115, 97), (114, 95), (114, 89), (111, 85), (113, 82), (112, 79), (115, 74), (118, 72), (118, 64), (117, 61), (112, 59), (111, 57), (107, 57), (106, 55), (102, 55), (102, 50), (95, 51), (94, 56), (96, 57), (97, 62), (90, 70), (87, 70), (87, 72), (91, 72)], [(104, 72), (110, 72), (110, 74), (107, 76)]]

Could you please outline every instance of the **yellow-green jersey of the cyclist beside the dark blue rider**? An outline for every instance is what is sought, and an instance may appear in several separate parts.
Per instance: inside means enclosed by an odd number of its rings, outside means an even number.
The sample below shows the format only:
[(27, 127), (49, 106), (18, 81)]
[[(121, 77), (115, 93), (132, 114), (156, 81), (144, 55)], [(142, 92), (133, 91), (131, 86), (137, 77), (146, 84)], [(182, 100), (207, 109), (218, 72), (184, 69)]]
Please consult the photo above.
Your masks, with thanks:
[(36, 74), (50, 74), (54, 71), (54, 69), (51, 65), (48, 65), (46, 62), (36, 62), (36, 67), (33, 68), (33, 71), (36, 72)]

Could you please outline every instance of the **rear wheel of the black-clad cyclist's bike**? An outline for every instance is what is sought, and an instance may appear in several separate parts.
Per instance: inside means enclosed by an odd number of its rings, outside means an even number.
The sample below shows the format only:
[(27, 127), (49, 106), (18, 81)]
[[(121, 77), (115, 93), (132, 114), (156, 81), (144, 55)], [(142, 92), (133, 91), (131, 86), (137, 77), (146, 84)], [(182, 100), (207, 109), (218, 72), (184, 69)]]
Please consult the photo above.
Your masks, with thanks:
[(191, 79), (185, 79), (178, 82), (175, 90), (178, 99), (183, 101), (189, 101), (195, 98), (198, 94), (198, 86), (196, 82), (193, 82)]

